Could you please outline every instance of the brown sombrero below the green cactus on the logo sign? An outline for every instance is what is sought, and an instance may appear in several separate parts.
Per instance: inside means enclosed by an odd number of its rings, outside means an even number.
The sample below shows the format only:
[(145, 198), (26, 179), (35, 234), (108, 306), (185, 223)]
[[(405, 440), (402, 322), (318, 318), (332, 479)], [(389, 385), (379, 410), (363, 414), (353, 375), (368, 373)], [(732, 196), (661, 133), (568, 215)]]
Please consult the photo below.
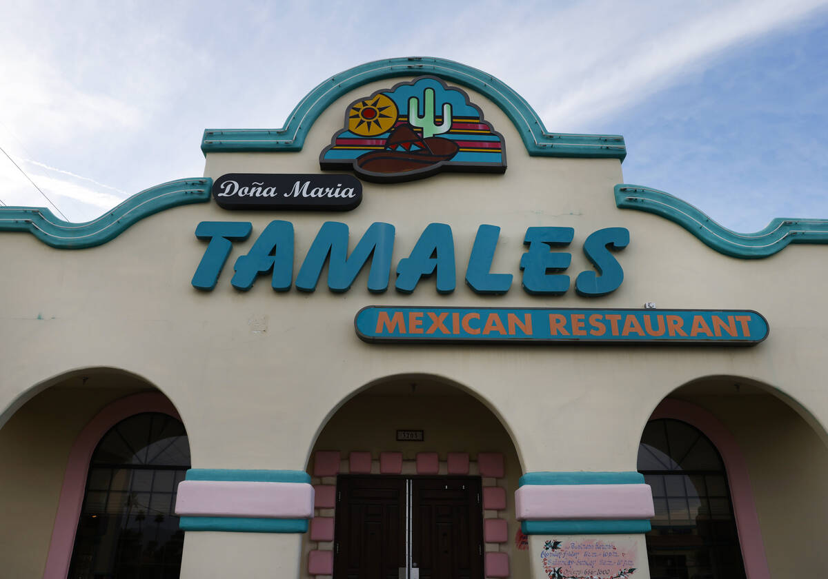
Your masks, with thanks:
[(383, 151), (365, 153), (356, 162), (360, 170), (370, 173), (402, 175), (450, 160), (457, 151), (460, 151), (460, 146), (454, 141), (440, 136), (423, 139), (414, 132), (414, 127), (406, 123), (394, 128), (388, 135)]

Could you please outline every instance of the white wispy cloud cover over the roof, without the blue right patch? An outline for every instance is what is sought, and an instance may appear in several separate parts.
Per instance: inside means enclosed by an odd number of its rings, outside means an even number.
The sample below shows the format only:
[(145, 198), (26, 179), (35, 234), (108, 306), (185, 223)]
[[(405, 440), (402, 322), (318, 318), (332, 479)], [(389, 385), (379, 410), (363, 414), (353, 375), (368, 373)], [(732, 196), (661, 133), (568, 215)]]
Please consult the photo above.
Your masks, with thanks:
[[(204, 127), (279, 127), (308, 90), (361, 62), (459, 60), (511, 84), (550, 131), (593, 132), (828, 0), (422, 0), (418, 17), (389, 6), (12, 2), (4, 18), (14, 26), (0, 35), (0, 122), (24, 144), (16, 158), (39, 184), (99, 213), (124, 191), (200, 174)], [(31, 185), (28, 194), (42, 204)]]

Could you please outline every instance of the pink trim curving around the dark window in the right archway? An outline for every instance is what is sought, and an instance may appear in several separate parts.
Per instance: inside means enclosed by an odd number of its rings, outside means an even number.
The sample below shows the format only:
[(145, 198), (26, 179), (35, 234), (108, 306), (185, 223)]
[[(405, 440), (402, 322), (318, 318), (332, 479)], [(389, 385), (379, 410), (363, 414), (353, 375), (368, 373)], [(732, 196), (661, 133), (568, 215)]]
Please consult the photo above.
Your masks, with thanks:
[(719, 450), (724, 468), (727, 470), (736, 529), (742, 547), (744, 572), (748, 579), (770, 579), (768, 559), (762, 542), (762, 531), (753, 502), (748, 462), (745, 461), (739, 443), (724, 424), (707, 410), (683, 400), (665, 399), (652, 412), (650, 420), (676, 419), (686, 422), (705, 433), (710, 442)]

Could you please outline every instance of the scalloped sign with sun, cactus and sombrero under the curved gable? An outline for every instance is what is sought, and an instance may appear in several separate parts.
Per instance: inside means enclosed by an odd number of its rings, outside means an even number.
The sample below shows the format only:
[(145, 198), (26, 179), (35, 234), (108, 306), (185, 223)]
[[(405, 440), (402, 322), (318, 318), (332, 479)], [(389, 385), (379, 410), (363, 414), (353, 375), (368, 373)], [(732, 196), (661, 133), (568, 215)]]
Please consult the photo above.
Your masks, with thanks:
[(351, 103), (344, 129), (319, 158), (322, 169), (352, 168), (364, 179), (408, 181), (440, 170), (503, 173), (503, 136), (469, 95), (432, 76)]

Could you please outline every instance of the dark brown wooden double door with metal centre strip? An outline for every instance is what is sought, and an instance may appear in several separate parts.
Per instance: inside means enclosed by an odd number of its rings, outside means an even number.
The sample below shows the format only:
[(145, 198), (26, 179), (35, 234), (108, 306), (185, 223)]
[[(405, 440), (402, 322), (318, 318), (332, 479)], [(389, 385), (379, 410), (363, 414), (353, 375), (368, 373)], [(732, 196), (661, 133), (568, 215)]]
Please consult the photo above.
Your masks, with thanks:
[(334, 579), (483, 579), (479, 476), (337, 480)]

